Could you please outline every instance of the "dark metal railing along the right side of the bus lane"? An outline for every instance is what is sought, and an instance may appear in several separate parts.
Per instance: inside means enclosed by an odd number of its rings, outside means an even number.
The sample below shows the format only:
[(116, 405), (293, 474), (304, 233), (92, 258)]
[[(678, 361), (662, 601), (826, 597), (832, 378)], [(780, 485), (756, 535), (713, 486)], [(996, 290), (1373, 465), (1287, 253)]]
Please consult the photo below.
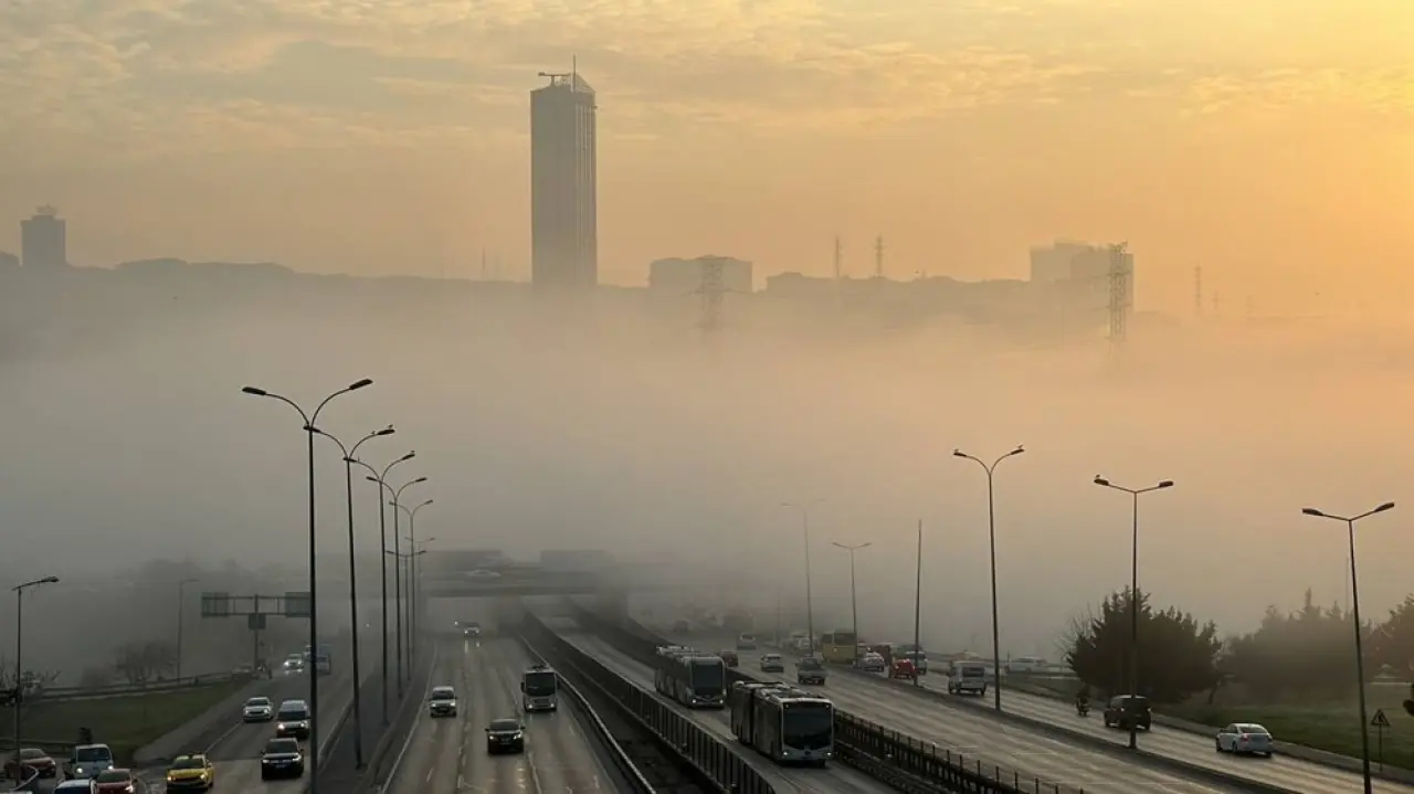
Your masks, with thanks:
[[(659, 646), (672, 644), (631, 619), (615, 624), (583, 608), (577, 606), (577, 610), (581, 624), (601, 632), (619, 648), (646, 664), (652, 664)], [(730, 685), (756, 678), (728, 668), (727, 681)], [(986, 763), (875, 725), (839, 708), (834, 712), (834, 742), (843, 760), (901, 788), (908, 787), (906, 781), (919, 781), (933, 790), (964, 794), (1085, 794), (1083, 788)], [(891, 780), (889, 776), (901, 776), (905, 781)]]

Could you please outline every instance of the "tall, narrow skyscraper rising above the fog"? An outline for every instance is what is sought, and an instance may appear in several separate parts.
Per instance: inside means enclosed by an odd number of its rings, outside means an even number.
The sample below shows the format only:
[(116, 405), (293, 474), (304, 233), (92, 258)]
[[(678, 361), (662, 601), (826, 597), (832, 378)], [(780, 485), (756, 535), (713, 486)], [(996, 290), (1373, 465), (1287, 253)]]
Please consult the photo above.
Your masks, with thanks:
[(594, 89), (578, 72), (546, 73), (530, 92), (530, 281), (544, 291), (598, 284)]

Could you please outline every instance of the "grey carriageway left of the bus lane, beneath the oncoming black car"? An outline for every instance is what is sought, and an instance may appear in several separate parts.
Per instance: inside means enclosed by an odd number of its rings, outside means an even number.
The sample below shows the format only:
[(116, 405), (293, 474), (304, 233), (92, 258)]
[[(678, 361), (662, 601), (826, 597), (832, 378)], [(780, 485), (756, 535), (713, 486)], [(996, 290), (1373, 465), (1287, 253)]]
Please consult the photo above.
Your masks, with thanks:
[[(520, 711), (520, 674), (532, 660), (519, 641), (447, 639), (436, 654), (428, 688), (454, 687), (458, 713), (419, 715), (386, 794), (629, 791), (570, 698), (561, 694), (559, 712)], [(496, 718), (522, 721), (525, 754), (486, 754), (485, 729)]]

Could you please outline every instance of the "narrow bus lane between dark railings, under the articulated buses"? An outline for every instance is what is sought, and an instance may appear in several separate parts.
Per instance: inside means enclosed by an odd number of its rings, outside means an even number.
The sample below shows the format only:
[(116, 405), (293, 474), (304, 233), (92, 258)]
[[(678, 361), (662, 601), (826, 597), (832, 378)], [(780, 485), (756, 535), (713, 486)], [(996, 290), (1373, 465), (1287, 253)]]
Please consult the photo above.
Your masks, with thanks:
[[(653, 691), (653, 671), (649, 667), (635, 661), (600, 637), (581, 632), (573, 619), (544, 617), (544, 623), (564, 640), (592, 656), (618, 675), (628, 678), (650, 692)], [(666, 698), (663, 698), (663, 702), (672, 704), (676, 711), (690, 716), (697, 725), (714, 733), (715, 737), (728, 747), (737, 749), (756, 771), (765, 776), (766, 781), (771, 783), (776, 791), (799, 791), (802, 794), (860, 794), (894, 791), (894, 788), (884, 786), (872, 777), (855, 771), (841, 763), (831, 763), (826, 769), (790, 769), (776, 766), (751, 749), (742, 747), (737, 743), (737, 737), (731, 733), (731, 716), (725, 709), (687, 709)]]

